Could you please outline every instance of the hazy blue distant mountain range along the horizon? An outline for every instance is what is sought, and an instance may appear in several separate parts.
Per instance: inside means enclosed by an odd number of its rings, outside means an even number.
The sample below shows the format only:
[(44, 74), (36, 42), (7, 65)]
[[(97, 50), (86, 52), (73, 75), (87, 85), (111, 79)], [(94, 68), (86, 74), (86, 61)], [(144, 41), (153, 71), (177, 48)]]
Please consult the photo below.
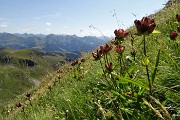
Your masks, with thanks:
[(0, 33), (0, 48), (87, 52), (106, 42), (105, 38), (93, 36)]

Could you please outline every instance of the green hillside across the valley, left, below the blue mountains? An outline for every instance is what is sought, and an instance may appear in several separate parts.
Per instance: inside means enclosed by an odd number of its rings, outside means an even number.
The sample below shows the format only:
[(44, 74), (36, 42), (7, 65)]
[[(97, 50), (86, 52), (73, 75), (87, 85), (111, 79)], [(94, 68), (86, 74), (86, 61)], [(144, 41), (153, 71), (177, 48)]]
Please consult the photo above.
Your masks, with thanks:
[[(37, 51), (30, 49), (14, 51), (7, 48), (0, 51), (1, 56), (13, 58), (10, 63), (1, 62), (0, 65), (0, 105), (18, 98), (19, 95), (37, 86), (45, 75), (54, 72), (50, 62), (64, 61), (62, 57), (43, 58), (35, 52)], [(22, 66), (19, 60), (25, 59), (33, 60), (37, 64), (34, 67)]]

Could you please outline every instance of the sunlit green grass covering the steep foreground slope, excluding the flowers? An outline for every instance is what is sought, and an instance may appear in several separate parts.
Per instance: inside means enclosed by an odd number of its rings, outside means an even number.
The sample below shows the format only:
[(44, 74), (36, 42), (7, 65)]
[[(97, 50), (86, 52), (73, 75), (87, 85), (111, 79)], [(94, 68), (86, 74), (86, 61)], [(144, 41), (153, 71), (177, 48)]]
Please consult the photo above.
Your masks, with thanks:
[[(148, 80), (143, 58), (143, 38), (134, 37), (136, 59), (132, 63), (125, 61), (128, 72), (135, 78), (130, 79), (127, 71), (119, 77), (119, 62), (114, 49), (110, 52), (109, 60), (113, 62), (113, 73), (104, 77), (99, 61), (95, 61), (91, 53), (83, 56), (85, 62), (81, 65), (65, 65), (59, 71), (48, 76), (41, 86), (32, 94), (32, 103), (26, 98), (5, 106), (2, 118), (8, 120), (44, 120), (44, 119), (131, 119), (153, 120), (158, 119), (157, 111), (162, 114), (165, 106), (173, 119), (180, 119), (180, 48), (169, 40), (169, 32), (176, 30), (176, 14), (180, 14), (180, 4), (164, 8), (153, 17), (157, 24), (156, 29), (161, 34), (151, 34), (146, 37), (147, 57), (150, 77), (157, 67), (152, 94), (149, 93)], [(135, 28), (129, 29), (135, 33)], [(113, 31), (112, 31), (113, 32)], [(179, 42), (180, 36), (177, 37)], [(124, 56), (131, 56), (132, 38), (125, 39), (126, 50)], [(110, 44), (110, 43), (109, 43)], [(160, 50), (157, 63), (158, 50)], [(130, 59), (133, 59), (130, 57)], [(81, 60), (81, 58), (79, 58)], [(104, 61), (102, 60), (102, 63)], [(103, 66), (104, 67), (104, 66)], [(74, 71), (75, 70), (75, 71)], [(117, 79), (116, 82), (111, 80)], [(157, 104), (155, 97), (160, 104)], [(147, 102), (146, 102), (147, 101)], [(21, 102), (24, 106), (16, 108), (15, 104)], [(156, 113), (148, 106), (152, 105)], [(160, 106), (160, 107), (159, 107)], [(10, 112), (7, 112), (7, 111)], [(163, 118), (166, 118), (162, 114)]]

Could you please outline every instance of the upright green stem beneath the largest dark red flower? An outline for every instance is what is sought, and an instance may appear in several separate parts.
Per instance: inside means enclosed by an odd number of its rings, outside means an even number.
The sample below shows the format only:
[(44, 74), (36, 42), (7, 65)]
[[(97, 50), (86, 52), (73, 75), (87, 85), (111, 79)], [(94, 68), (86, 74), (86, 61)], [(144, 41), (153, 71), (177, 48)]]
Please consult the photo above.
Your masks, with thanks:
[[(144, 56), (147, 57), (147, 53), (146, 53), (146, 36), (143, 35), (143, 42), (144, 42)], [(146, 74), (147, 74), (147, 79), (148, 79), (148, 83), (149, 83), (149, 91), (150, 94), (152, 94), (152, 85), (151, 85), (151, 80), (150, 80), (150, 76), (149, 76), (149, 68), (148, 65), (146, 64)]]

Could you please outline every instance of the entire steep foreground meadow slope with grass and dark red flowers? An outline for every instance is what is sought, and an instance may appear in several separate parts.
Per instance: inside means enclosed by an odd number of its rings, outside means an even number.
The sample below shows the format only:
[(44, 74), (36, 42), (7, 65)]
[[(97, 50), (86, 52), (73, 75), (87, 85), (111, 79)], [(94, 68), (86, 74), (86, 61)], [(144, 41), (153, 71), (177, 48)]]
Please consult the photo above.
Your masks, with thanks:
[[(113, 32), (113, 31), (112, 31)], [(0, 109), (7, 120), (179, 120), (180, 3), (118, 28)]]

